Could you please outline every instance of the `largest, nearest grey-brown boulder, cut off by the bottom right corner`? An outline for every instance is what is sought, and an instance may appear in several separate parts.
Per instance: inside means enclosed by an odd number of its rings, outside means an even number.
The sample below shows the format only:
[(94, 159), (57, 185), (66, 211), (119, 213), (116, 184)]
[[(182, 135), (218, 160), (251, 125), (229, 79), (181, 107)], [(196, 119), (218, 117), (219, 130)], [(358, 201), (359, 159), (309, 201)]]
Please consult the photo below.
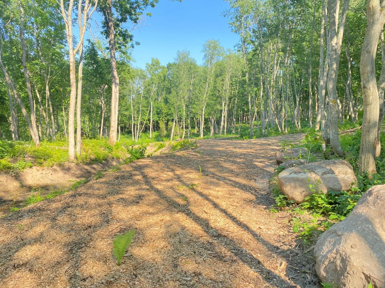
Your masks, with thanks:
[(385, 185), (362, 195), (352, 213), (319, 238), (316, 271), (339, 288), (385, 288)]

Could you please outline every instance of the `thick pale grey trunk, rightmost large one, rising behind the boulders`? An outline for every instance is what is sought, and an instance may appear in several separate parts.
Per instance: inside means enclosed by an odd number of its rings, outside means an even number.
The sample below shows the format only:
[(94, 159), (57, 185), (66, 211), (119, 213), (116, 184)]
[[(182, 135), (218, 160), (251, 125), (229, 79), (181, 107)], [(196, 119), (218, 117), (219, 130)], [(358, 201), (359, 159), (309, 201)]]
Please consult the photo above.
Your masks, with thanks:
[(375, 71), (375, 56), (378, 38), (385, 23), (385, 1), (367, 1), (367, 27), (363, 40), (360, 74), (363, 98), (362, 136), (360, 147), (360, 170), (376, 173), (375, 151), (379, 116), (378, 88)]

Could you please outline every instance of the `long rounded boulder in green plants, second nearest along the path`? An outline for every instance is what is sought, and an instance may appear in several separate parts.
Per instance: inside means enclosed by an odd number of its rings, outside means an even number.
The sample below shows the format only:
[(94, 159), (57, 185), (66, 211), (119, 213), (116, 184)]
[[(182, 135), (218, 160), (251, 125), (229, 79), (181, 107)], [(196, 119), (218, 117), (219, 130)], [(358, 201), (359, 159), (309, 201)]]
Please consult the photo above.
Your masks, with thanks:
[(352, 166), (344, 160), (325, 160), (283, 170), (278, 187), (289, 200), (303, 203), (305, 198), (330, 191), (347, 191), (357, 184)]

